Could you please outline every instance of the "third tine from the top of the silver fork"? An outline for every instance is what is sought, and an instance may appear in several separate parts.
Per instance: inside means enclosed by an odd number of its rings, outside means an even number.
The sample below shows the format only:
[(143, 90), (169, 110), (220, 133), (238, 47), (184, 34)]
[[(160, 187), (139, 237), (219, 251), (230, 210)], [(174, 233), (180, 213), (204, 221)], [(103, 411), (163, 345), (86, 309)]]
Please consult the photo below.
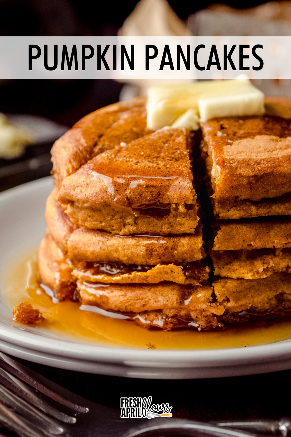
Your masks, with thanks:
[(42, 431), (47, 431), (53, 435), (60, 435), (64, 432), (64, 429), (49, 416), (45, 416), (40, 410), (31, 406), (24, 399), (14, 395), (14, 393), (11, 393), (2, 385), (0, 385), (0, 400), (7, 406), (10, 406), (14, 413), (19, 413), (24, 419), (33, 422), (36, 427), (40, 427)]

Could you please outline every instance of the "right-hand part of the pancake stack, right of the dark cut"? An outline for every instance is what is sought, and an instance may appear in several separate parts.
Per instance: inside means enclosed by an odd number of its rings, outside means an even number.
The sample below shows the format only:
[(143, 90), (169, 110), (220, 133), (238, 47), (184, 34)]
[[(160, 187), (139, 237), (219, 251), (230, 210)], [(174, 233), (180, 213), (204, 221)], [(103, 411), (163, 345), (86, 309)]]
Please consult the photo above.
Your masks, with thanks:
[[(290, 101), (273, 100), (289, 116)], [(285, 108), (284, 108), (285, 104)], [(287, 113), (287, 114), (286, 114)], [(291, 120), (215, 118), (202, 126), (216, 221), (209, 255), (225, 321), (291, 310)]]

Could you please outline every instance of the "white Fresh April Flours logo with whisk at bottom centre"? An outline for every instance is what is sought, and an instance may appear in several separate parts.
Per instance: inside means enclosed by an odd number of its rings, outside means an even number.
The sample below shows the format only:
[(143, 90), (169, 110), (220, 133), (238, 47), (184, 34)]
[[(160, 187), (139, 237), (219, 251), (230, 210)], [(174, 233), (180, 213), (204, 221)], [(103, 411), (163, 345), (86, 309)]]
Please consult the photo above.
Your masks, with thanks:
[(125, 419), (153, 419), (154, 417), (172, 417), (168, 402), (166, 404), (152, 404), (152, 397), (148, 398), (120, 398), (120, 417)]

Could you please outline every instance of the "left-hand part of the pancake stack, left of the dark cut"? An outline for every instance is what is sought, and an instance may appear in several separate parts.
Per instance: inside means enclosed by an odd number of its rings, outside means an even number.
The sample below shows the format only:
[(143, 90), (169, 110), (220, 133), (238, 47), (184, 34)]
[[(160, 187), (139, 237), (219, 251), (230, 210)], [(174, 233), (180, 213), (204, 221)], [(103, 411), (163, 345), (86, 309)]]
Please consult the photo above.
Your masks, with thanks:
[(220, 326), (192, 182), (199, 144), (184, 128), (148, 131), (144, 104), (98, 110), (55, 143), (41, 279), (58, 300), (144, 327)]

